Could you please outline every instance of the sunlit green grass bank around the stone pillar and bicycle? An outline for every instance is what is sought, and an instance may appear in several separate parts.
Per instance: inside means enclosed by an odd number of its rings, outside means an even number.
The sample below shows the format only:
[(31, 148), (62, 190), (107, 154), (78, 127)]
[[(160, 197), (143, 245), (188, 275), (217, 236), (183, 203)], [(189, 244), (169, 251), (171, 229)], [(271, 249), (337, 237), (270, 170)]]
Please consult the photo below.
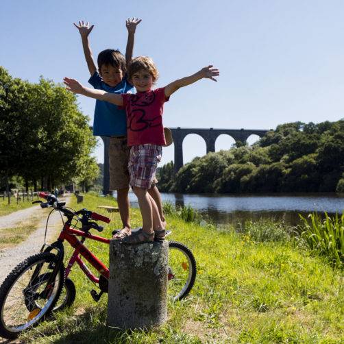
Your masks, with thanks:
[[(97, 208), (116, 205), (114, 199), (86, 195), (84, 204), (73, 202), (73, 208), (112, 217), (103, 236), (121, 227), (118, 213)], [(132, 210), (131, 219), (133, 227), (140, 225), (138, 209)], [(231, 225), (217, 228), (204, 221), (183, 221), (173, 209), (167, 223), (172, 230), (169, 240), (193, 250), (198, 273), (191, 294), (169, 303), (165, 325), (132, 332), (106, 328), (107, 297), (95, 303), (90, 297), (95, 286), (73, 268), (75, 304), (25, 333), (19, 342), (344, 343), (343, 271), (297, 247), (281, 234), (281, 223), (245, 223), (236, 232)], [(89, 245), (106, 262), (108, 247)]]

